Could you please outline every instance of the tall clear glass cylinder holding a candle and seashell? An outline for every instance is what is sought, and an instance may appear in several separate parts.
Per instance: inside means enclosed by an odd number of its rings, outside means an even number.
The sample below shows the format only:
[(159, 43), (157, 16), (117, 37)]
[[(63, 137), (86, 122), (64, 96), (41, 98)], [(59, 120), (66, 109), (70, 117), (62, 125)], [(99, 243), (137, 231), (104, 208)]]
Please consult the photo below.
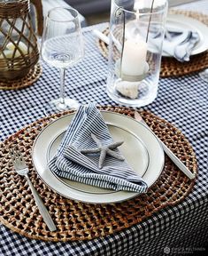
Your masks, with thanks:
[(166, 0), (112, 0), (107, 93), (142, 107), (157, 97)]

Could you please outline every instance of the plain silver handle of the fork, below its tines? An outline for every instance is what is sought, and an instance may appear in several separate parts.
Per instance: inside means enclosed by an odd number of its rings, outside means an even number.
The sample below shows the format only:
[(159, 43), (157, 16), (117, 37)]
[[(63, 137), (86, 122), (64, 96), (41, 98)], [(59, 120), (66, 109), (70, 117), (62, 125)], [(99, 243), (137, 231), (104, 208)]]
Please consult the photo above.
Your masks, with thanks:
[(45, 207), (45, 205), (42, 203), (42, 199), (41, 197), (38, 195), (36, 189), (34, 188), (33, 183), (29, 180), (29, 177), (26, 175), (27, 178), (27, 182), (29, 184), (29, 187), (32, 191), (32, 194), (35, 198), (35, 203), (42, 215), (43, 220), (45, 221), (46, 225), (48, 226), (48, 228), (50, 229), (50, 231), (55, 231), (57, 228), (50, 216), (49, 211), (47, 210), (47, 208)]

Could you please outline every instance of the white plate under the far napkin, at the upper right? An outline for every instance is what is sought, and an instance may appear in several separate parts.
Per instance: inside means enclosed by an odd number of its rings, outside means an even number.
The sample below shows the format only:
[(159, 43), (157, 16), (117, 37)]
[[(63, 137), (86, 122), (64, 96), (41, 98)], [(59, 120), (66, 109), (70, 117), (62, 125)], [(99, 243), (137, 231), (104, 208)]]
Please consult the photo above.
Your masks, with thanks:
[[(181, 14), (168, 14), (166, 20), (166, 27), (173, 28), (173, 30), (189, 30), (196, 31), (199, 35), (199, 42), (195, 45), (191, 55), (205, 52), (208, 49), (208, 27), (199, 20), (181, 15)], [(172, 57), (165, 52), (162, 54), (166, 57)]]

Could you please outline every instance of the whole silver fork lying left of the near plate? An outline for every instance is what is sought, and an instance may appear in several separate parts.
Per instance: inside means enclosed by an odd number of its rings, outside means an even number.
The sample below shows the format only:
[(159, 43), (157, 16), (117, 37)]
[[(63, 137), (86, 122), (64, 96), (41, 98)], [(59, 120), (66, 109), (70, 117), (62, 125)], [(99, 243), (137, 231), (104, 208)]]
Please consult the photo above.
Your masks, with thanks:
[(16, 172), (18, 172), (19, 175), (24, 176), (27, 179), (27, 182), (29, 184), (29, 187), (32, 191), (32, 194), (35, 198), (35, 203), (41, 212), (42, 218), (45, 221), (46, 225), (50, 229), (50, 231), (55, 231), (57, 228), (50, 216), (50, 213), (48, 212), (47, 208), (45, 205), (42, 203), (41, 197), (38, 195), (37, 191), (35, 190), (32, 182), (29, 180), (29, 177), (27, 173), (29, 172), (27, 165), (25, 163), (25, 160), (23, 159), (23, 156), (19, 152), (17, 148), (12, 148), (10, 149), (10, 155), (12, 157), (12, 163), (14, 165), (14, 169)]

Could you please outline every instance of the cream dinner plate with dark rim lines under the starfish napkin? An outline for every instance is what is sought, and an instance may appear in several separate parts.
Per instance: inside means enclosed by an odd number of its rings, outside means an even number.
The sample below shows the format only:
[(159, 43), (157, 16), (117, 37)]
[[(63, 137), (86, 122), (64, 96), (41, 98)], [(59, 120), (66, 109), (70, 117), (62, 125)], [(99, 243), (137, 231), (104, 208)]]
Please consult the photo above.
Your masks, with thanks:
[[(121, 154), (150, 188), (158, 180), (165, 161), (164, 151), (157, 137), (145, 125), (131, 117), (107, 111), (101, 113), (113, 140), (124, 140), (119, 147)], [(32, 159), (36, 172), (44, 183), (62, 196), (93, 204), (117, 203), (137, 196), (138, 193), (135, 192), (114, 191), (66, 180), (50, 171), (48, 162), (55, 156), (73, 116), (74, 114), (62, 116), (50, 123), (42, 129), (34, 142)]]

